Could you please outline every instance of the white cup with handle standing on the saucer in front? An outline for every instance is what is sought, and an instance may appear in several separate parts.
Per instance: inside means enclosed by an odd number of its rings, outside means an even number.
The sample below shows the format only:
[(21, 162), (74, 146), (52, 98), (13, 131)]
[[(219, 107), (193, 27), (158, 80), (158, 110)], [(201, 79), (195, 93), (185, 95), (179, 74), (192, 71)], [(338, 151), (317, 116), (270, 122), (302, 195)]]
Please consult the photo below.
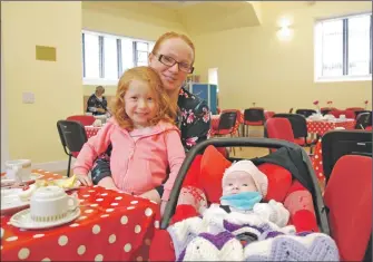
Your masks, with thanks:
[(59, 186), (40, 187), (31, 196), (30, 215), (37, 222), (53, 222), (66, 217), (78, 205), (78, 198)]

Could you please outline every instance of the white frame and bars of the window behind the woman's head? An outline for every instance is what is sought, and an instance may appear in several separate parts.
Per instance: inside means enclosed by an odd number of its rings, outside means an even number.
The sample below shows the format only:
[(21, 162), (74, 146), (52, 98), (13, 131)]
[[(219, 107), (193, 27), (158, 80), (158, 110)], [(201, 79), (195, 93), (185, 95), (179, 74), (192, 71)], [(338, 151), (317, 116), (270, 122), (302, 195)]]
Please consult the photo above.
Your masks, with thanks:
[[(89, 35), (96, 35), (99, 37), (99, 77), (98, 78), (87, 78), (86, 77), (86, 60), (85, 60), (85, 36), (86, 33)], [(117, 47), (117, 79), (109, 79), (105, 77), (105, 54), (104, 54), (104, 45), (105, 45), (105, 38), (115, 38), (116, 39), (116, 47)], [(155, 41), (153, 40), (145, 40), (145, 39), (138, 39), (132, 37), (126, 37), (126, 36), (118, 36), (112, 33), (105, 33), (105, 32), (98, 32), (98, 31), (91, 31), (91, 30), (81, 30), (81, 51), (82, 51), (82, 84), (84, 85), (117, 85), (119, 81), (119, 78), (122, 74), (122, 50), (121, 50), (121, 39), (130, 40), (132, 41), (132, 52), (134, 52), (134, 60), (131, 64), (134, 67), (138, 64), (137, 61), (137, 50), (136, 50), (136, 43), (137, 42), (144, 42), (147, 43), (148, 47), (151, 45), (154, 46)], [(148, 54), (151, 50), (148, 50)]]

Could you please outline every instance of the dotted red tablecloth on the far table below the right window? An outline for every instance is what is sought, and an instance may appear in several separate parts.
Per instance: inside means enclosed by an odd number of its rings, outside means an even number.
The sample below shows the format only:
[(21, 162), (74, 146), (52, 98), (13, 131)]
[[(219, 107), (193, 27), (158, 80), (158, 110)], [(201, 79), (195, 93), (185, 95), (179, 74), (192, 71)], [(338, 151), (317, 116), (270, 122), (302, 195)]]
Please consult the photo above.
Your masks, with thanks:
[(336, 127), (344, 127), (345, 129), (353, 129), (355, 127), (354, 119), (346, 119), (344, 122), (326, 122), (326, 120), (308, 120), (307, 132), (310, 134), (318, 134), (323, 136), (326, 132), (333, 130)]

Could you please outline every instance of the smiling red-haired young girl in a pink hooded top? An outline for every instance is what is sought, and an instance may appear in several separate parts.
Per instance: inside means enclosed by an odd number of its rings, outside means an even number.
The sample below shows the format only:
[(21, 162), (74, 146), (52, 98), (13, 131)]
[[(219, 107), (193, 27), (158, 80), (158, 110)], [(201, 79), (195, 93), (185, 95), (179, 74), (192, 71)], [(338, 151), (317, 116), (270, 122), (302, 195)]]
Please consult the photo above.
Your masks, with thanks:
[(75, 174), (82, 184), (90, 184), (88, 172), (111, 144), (112, 174), (99, 185), (157, 203), (161, 197), (164, 207), (185, 158), (175, 118), (176, 105), (169, 101), (158, 74), (149, 67), (127, 70), (118, 84), (112, 118), (81, 148)]

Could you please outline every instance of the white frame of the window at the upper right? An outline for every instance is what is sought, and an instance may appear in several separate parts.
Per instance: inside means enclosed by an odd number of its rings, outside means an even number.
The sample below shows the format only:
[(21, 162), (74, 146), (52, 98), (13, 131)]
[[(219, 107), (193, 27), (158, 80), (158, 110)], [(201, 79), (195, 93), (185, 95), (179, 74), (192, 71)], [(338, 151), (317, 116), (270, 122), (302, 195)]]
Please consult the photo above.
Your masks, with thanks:
[[(349, 75), (349, 19), (362, 16), (370, 16), (370, 62), (369, 62), (369, 74), (362, 76), (351, 76)], [(342, 76), (322, 76), (322, 59), (323, 59), (323, 50), (322, 50), (322, 23), (325, 21), (333, 20), (342, 20), (343, 23), (343, 54), (341, 54), (343, 58), (343, 70)], [(314, 81), (315, 83), (324, 83), (324, 81), (366, 81), (372, 80), (372, 12), (361, 12), (353, 13), (343, 17), (334, 17), (327, 19), (316, 19), (314, 23)]]

